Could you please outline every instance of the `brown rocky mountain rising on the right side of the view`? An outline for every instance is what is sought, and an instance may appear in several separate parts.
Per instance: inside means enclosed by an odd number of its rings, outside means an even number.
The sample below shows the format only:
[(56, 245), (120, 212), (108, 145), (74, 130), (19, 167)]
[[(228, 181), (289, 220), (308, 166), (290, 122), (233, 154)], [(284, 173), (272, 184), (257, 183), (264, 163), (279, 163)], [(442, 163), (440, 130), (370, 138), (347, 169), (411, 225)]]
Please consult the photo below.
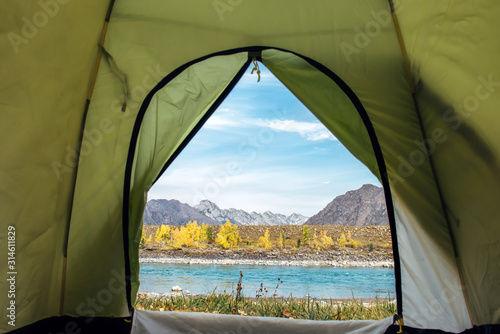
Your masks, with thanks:
[(365, 184), (335, 197), (323, 210), (309, 218), (307, 225), (389, 225), (382, 188)]

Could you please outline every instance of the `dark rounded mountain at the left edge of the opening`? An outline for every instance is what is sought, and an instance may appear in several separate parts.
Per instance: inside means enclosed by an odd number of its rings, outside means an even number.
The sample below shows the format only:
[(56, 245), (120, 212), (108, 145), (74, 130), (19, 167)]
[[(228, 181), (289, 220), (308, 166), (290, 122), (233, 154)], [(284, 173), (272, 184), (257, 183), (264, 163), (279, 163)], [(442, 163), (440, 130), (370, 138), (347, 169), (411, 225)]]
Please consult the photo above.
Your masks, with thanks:
[(215, 220), (178, 200), (154, 199), (148, 201), (144, 210), (144, 225), (186, 225), (189, 221), (218, 225)]

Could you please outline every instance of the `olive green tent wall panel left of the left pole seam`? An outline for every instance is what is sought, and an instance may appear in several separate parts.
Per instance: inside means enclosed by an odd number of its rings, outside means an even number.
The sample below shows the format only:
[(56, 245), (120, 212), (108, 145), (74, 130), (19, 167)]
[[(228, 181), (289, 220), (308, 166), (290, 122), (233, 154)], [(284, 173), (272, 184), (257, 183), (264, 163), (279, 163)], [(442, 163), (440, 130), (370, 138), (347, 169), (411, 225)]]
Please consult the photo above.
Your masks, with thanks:
[[(0, 5), (0, 331), (58, 315), (82, 113), (106, 14), (102, 1)], [(7, 227), (16, 231), (8, 298)], [(11, 275), (9, 275), (10, 277)]]

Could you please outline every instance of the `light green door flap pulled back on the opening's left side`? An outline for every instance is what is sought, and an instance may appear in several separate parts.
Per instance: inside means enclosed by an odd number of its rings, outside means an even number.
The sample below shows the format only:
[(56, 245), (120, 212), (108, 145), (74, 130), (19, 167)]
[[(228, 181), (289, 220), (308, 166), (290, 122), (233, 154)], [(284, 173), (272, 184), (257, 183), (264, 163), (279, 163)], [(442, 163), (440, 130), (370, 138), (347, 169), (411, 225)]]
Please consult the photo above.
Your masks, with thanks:
[[(179, 149), (216, 98), (223, 93), (245, 63), (246, 52), (219, 56), (194, 64), (155, 92), (140, 124), (133, 157), (132, 189), (129, 195), (132, 296), (139, 288), (139, 253), (142, 216), (149, 190), (166, 161)], [(175, 130), (173, 129), (175, 126)]]

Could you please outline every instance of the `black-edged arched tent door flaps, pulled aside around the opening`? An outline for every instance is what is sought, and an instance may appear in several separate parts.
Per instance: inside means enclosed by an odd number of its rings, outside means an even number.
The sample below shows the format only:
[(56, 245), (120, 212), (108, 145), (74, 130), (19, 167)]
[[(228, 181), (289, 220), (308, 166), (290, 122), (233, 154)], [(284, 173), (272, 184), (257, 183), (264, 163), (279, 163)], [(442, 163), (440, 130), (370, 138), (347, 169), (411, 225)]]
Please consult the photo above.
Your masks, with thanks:
[[(186, 64), (162, 80), (143, 103), (134, 128), (126, 171), (124, 233), (137, 236), (134, 245), (128, 245), (128, 235), (124, 237), (131, 260), (126, 263), (138, 264), (138, 231), (147, 191), (220, 106), (247, 67), (255, 61), (263, 61), (381, 181), (393, 232), (394, 256), (397, 258), (394, 214), (385, 164), (373, 127), (357, 97), (334, 73), (311, 59), (284, 50), (249, 48), (211, 55)], [(171, 126), (162, 127), (159, 124)], [(399, 261), (395, 263), (396, 295), (399, 301)], [(126, 268), (127, 277), (130, 277), (127, 291), (129, 306), (138, 288), (137, 268), (133, 265)], [(398, 303), (398, 313), (401, 311), (401, 303)]]

